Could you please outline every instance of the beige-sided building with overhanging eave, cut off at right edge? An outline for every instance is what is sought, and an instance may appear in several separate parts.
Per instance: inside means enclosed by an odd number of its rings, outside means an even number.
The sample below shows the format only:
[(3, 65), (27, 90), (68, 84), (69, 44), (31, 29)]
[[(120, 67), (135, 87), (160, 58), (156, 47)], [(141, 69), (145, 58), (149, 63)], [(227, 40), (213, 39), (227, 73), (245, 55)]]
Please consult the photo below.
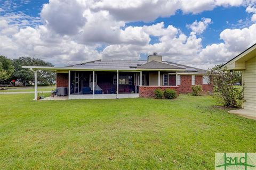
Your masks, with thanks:
[(250, 111), (256, 111), (256, 44), (222, 67), (226, 67), (227, 70), (242, 71), (243, 96), (245, 99), (242, 107)]

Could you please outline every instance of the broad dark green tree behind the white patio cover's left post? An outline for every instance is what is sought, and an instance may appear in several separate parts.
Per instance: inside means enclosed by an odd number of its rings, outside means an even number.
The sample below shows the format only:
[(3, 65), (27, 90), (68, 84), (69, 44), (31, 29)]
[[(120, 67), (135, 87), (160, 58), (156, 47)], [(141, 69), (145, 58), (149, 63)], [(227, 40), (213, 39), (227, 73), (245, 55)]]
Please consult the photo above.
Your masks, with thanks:
[[(19, 80), (24, 85), (29, 81), (34, 82), (34, 72), (28, 69), (22, 69), (22, 65), (27, 66), (54, 66), (49, 62), (45, 62), (39, 58), (19, 57), (13, 60), (15, 72), (13, 78)], [(40, 70), (38, 71), (38, 81), (44, 84), (52, 83), (55, 80), (55, 73), (51, 71)]]

